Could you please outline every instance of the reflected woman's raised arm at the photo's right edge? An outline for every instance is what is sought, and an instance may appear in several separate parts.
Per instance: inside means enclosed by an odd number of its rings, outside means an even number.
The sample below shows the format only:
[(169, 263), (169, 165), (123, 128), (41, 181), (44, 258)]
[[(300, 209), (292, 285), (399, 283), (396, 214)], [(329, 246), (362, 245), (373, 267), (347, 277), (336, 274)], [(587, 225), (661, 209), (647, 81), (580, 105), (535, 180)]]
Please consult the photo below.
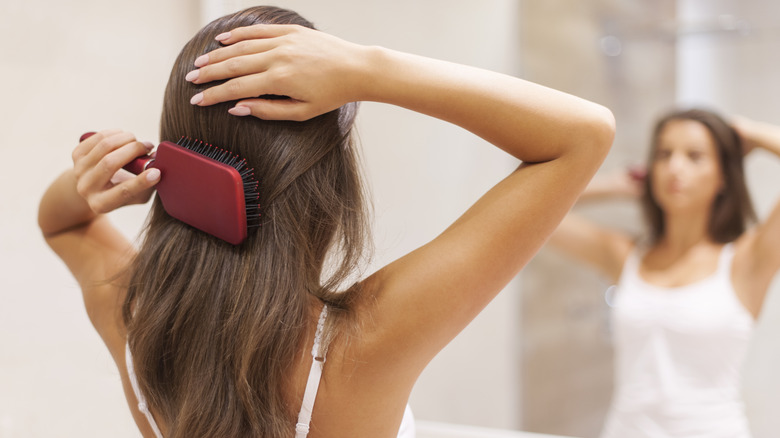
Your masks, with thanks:
[[(745, 153), (763, 149), (780, 157), (780, 126), (758, 122), (743, 117), (734, 121), (734, 127), (742, 137)], [(764, 303), (767, 289), (780, 269), (780, 202), (776, 203), (767, 218), (751, 232), (740, 238), (740, 251), (745, 255), (744, 266), (751, 286), (747, 289), (747, 306), (757, 316)], [(738, 247), (738, 250), (742, 248)], [(740, 255), (740, 253), (737, 253)]]

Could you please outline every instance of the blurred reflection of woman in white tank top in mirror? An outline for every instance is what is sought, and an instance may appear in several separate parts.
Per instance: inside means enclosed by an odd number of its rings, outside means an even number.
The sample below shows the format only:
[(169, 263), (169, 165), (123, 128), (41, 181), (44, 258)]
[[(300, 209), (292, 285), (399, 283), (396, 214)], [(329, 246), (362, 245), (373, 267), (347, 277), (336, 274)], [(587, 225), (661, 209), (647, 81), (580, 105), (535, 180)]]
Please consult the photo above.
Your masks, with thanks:
[[(780, 128), (704, 110), (656, 125), (646, 177), (597, 178), (583, 195), (641, 195), (637, 243), (574, 215), (554, 247), (617, 283), (615, 390), (603, 437), (749, 437), (740, 371), (780, 268), (780, 207), (754, 214), (743, 155), (780, 155)], [(644, 186), (642, 180), (644, 179)]]

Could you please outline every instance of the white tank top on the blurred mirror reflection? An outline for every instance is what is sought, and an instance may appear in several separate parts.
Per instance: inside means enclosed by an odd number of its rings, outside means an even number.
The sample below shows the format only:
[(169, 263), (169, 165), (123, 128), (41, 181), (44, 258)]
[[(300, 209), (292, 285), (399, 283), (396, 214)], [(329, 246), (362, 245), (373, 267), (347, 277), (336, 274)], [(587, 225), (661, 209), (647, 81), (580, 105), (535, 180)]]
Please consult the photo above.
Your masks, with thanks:
[(615, 389), (602, 438), (749, 438), (741, 393), (753, 317), (731, 283), (734, 249), (711, 276), (648, 284), (626, 260), (612, 311)]

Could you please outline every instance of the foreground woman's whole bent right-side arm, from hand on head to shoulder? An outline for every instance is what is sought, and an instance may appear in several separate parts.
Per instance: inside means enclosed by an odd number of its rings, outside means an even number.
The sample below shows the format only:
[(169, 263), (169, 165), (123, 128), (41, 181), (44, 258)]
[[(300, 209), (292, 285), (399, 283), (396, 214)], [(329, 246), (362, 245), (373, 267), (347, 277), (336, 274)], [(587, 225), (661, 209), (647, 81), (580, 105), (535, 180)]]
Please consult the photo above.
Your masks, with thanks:
[(228, 46), (200, 58), (188, 79), (238, 77), (194, 104), (284, 95), (240, 101), (231, 112), (301, 120), (348, 101), (384, 102), (459, 125), (524, 161), (440, 236), (366, 280), (375, 295), (361, 354), (398, 379), (416, 379), (533, 257), (612, 143), (609, 110), (511, 76), (297, 26), (220, 38)]

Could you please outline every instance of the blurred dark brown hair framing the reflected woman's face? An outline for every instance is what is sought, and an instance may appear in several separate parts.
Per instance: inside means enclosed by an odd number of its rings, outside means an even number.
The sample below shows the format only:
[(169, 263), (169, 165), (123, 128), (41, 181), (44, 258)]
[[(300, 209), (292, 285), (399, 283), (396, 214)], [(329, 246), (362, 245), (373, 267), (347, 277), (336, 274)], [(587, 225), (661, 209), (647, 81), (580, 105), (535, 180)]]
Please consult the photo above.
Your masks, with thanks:
[[(756, 218), (745, 184), (742, 139), (731, 125), (712, 111), (696, 108), (673, 111), (658, 120), (655, 125), (648, 163), (654, 160), (659, 136), (666, 124), (672, 120), (699, 122), (712, 134), (720, 161), (724, 187), (712, 204), (708, 232), (709, 236), (718, 243), (728, 243), (735, 240)], [(641, 201), (645, 219), (650, 226), (650, 237), (653, 242), (657, 242), (664, 235), (666, 224), (663, 210), (653, 198), (652, 179), (653, 166), (648, 165), (645, 190)]]

